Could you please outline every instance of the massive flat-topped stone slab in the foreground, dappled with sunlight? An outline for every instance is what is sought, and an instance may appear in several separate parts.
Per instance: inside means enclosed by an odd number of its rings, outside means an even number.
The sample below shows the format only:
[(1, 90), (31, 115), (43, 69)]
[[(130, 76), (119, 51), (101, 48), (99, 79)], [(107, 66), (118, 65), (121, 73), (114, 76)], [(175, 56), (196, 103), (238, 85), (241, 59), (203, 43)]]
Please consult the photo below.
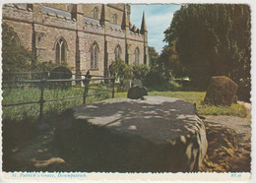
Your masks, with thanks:
[(207, 152), (204, 123), (178, 98), (107, 99), (69, 109), (56, 145), (77, 171), (198, 171)]

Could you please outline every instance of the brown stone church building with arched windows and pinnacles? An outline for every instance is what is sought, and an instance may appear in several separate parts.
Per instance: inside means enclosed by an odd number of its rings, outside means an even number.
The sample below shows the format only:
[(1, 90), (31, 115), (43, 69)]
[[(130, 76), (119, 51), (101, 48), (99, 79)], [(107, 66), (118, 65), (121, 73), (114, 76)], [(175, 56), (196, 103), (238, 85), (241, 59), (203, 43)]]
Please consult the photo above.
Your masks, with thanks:
[(127, 4), (5, 4), (2, 22), (14, 40), (40, 62), (67, 63), (75, 74), (108, 76), (120, 57), (127, 64), (149, 64), (145, 15), (141, 29), (130, 22)]

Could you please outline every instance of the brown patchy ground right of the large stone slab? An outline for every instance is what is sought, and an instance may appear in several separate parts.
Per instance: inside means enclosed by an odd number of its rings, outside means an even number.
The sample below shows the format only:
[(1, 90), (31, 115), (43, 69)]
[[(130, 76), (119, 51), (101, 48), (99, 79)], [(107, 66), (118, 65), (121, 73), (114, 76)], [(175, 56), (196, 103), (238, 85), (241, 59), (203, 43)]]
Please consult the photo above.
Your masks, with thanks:
[[(204, 171), (250, 172), (251, 170), (251, 122), (250, 117), (239, 118), (230, 116), (207, 116), (206, 128), (209, 142), (207, 156), (204, 159)], [(211, 138), (211, 134), (216, 136)], [(212, 152), (222, 150), (224, 141), (228, 149), (223, 155)], [(220, 142), (220, 143), (219, 143)], [(215, 144), (213, 149), (212, 144)], [(226, 148), (226, 147), (225, 147)], [(212, 162), (213, 164), (211, 164)], [(212, 166), (207, 166), (211, 164)]]

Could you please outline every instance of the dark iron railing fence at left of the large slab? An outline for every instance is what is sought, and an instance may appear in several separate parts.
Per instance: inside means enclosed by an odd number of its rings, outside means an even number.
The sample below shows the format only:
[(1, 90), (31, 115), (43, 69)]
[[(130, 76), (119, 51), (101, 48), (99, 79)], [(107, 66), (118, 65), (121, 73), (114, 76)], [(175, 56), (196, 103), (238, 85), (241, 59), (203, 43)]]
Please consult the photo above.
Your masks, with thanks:
[[(14, 75), (21, 76), (23, 74), (28, 74), (28, 73), (14, 73)], [(38, 72), (33, 72), (33, 73), (38, 73)], [(43, 72), (40, 72), (40, 73), (43, 73)], [(60, 73), (60, 72), (58, 72), (58, 73)], [(30, 72), (29, 74), (32, 74), (32, 72)], [(85, 104), (88, 96), (111, 93), (112, 97), (114, 97), (115, 78), (110, 78), (110, 77), (106, 78), (103, 76), (94, 76), (94, 75), (90, 75), (90, 74), (81, 75), (81, 77), (84, 77), (84, 79), (45, 79), (47, 77), (42, 77), (42, 79), (23, 79), (23, 80), (21, 80), (21, 77), (17, 77), (18, 78), (17, 80), (14, 80), (14, 78), (11, 78), (11, 80), (3, 79), (3, 81), (2, 81), (3, 90), (5, 90), (5, 89), (12, 89), (12, 90), (14, 89), (15, 90), (16, 88), (21, 88), (21, 87), (22, 88), (24, 88), (24, 87), (38, 88), (39, 89), (39, 98), (36, 101), (2, 103), (2, 107), (11, 107), (11, 106), (37, 103), (37, 104), (39, 104), (39, 120), (41, 120), (43, 117), (43, 105), (45, 102), (83, 97), (83, 103)], [(98, 83), (98, 81), (99, 81), (99, 83)], [(72, 85), (72, 82), (75, 82), (76, 85)], [(90, 89), (90, 83), (92, 84), (92, 83), (96, 83), (96, 82), (97, 82), (96, 85), (100, 85), (100, 82), (106, 83), (108, 86), (110, 86), (110, 90), (94, 89), (94, 88), (92, 88), (94, 85), (91, 85), (91, 89)], [(15, 85), (13, 85), (13, 84), (15, 84)], [(54, 86), (58, 87), (58, 85), (56, 85), (56, 84), (64, 84), (64, 85), (61, 85), (62, 87), (68, 86), (70, 88), (82, 88), (82, 89), (84, 89), (84, 92), (83, 92), (83, 94), (79, 94), (79, 95), (45, 99), (45, 97), (44, 97), (45, 89), (49, 89), (49, 87), (52, 88)], [(89, 90), (96, 91), (96, 92), (89, 93)]]

